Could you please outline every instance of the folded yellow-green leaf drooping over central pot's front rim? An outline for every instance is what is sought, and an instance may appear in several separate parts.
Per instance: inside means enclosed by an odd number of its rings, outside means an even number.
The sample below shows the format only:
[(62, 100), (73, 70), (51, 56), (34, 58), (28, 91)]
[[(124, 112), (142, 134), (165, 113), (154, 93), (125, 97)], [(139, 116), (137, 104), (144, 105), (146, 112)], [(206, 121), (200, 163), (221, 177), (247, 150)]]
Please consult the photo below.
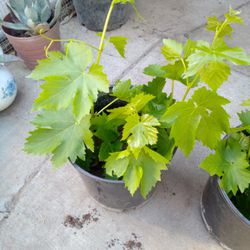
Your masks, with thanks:
[(163, 156), (148, 147), (143, 147), (138, 158), (135, 158), (129, 149), (111, 153), (106, 159), (105, 169), (111, 176), (123, 176), (131, 195), (134, 195), (140, 186), (141, 194), (146, 198), (152, 187), (160, 180), (161, 170), (167, 169), (167, 163)]

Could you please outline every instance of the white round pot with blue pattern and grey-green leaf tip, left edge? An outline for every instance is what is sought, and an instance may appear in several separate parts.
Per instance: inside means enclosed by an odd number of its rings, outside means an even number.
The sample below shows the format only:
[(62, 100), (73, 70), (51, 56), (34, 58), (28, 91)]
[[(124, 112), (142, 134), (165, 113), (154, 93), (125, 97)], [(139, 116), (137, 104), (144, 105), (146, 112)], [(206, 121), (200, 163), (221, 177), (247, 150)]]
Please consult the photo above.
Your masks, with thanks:
[(6, 55), (0, 47), (0, 111), (8, 108), (16, 98), (17, 87), (12, 73), (5, 67), (5, 63), (19, 61), (14, 55)]

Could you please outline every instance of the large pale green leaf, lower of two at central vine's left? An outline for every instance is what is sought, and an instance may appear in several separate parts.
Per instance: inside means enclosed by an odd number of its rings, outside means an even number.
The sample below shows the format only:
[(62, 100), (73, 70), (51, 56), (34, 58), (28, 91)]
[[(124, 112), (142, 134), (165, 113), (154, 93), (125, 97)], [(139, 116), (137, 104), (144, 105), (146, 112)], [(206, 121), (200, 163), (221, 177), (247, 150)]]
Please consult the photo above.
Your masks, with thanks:
[(94, 150), (92, 133), (89, 130), (90, 117), (85, 116), (79, 123), (70, 109), (43, 111), (34, 119), (36, 129), (25, 143), (25, 151), (31, 154), (52, 154), (52, 162), (59, 167), (70, 158), (84, 159), (85, 146)]

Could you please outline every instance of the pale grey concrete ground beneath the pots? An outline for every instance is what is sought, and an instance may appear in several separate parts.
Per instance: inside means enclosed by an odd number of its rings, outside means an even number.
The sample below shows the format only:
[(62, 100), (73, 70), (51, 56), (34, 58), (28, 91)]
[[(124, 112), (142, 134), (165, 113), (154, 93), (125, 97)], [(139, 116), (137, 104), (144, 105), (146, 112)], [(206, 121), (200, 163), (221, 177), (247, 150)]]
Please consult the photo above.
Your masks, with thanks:
[[(199, 39), (207, 15), (222, 15), (229, 4), (242, 10), (246, 24), (238, 28), (235, 41), (250, 53), (250, 1), (246, 0), (138, 0), (145, 21), (134, 15), (110, 35), (129, 38), (127, 58), (107, 47), (102, 58), (111, 82), (131, 78), (143, 83), (148, 64), (164, 62), (160, 54), (163, 37)], [(98, 45), (98, 37), (73, 18), (61, 27), (63, 38), (82, 38)], [(14, 104), (0, 113), (0, 249), (3, 250), (219, 250), (206, 231), (199, 211), (201, 193), (208, 175), (198, 169), (207, 149), (197, 146), (185, 159), (177, 152), (169, 171), (162, 176), (156, 194), (143, 207), (118, 213), (109, 211), (89, 196), (75, 169), (67, 164), (52, 170), (47, 157), (23, 151), (31, 128), (31, 106), (39, 83), (26, 79), (30, 71), (22, 63), (8, 66), (16, 77), (18, 95)], [(250, 70), (233, 70), (221, 93), (232, 101), (228, 106), (232, 123), (235, 111), (249, 97)], [(181, 86), (176, 98), (183, 91)], [(82, 228), (64, 225), (68, 216), (88, 218)], [(87, 216), (87, 217), (86, 217)]]

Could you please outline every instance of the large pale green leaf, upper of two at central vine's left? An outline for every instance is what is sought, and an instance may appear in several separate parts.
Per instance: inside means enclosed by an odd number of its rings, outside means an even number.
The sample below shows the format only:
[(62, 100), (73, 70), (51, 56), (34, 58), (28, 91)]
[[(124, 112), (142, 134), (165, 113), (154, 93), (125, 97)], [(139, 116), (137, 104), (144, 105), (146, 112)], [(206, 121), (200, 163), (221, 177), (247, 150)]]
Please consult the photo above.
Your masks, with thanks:
[(91, 64), (92, 52), (84, 44), (68, 43), (66, 54), (49, 52), (49, 57), (40, 60), (30, 75), (33, 79), (45, 80), (34, 109), (65, 109), (73, 100), (77, 121), (89, 114), (98, 91), (109, 91), (102, 66)]

